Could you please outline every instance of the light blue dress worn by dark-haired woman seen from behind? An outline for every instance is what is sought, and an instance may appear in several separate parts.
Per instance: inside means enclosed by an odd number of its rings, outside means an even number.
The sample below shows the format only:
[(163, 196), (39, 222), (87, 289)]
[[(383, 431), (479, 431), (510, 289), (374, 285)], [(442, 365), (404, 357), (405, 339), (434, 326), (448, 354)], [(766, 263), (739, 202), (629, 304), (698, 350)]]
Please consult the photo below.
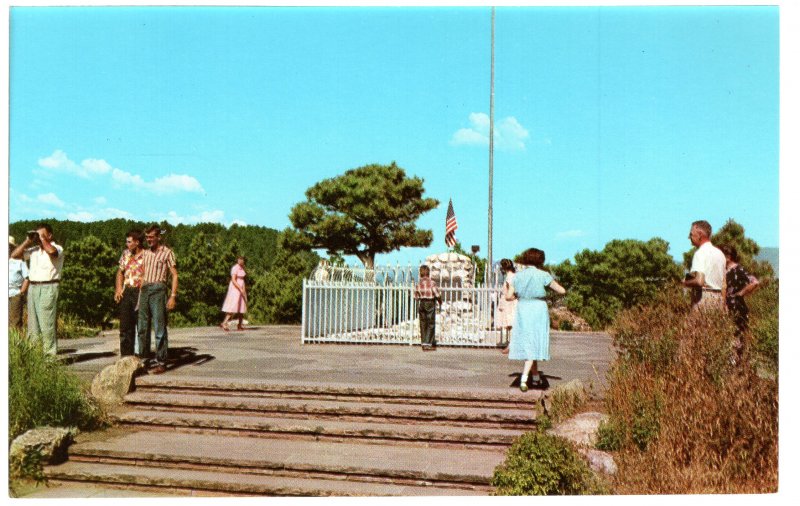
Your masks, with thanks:
[(552, 282), (550, 273), (535, 267), (518, 272), (511, 281), (519, 299), (510, 360), (550, 360), (550, 315), (544, 296), (545, 287)]

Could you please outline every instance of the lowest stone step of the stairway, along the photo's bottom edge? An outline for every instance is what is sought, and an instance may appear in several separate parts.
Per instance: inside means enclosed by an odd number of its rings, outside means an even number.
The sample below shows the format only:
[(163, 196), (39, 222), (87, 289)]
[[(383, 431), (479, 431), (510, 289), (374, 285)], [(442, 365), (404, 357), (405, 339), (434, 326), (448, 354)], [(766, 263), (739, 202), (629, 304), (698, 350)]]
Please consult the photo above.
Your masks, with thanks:
[[(197, 469), (170, 469), (141, 465), (109, 465), (69, 461), (49, 466), (51, 484), (81, 483), (144, 490), (158, 495), (192, 496), (448, 496), (485, 495), (480, 488), (464, 489), (430, 485), (398, 485), (350, 480), (297, 478), (239, 474)], [(132, 496), (136, 494), (131, 494)], [(124, 496), (124, 494), (120, 494)]]

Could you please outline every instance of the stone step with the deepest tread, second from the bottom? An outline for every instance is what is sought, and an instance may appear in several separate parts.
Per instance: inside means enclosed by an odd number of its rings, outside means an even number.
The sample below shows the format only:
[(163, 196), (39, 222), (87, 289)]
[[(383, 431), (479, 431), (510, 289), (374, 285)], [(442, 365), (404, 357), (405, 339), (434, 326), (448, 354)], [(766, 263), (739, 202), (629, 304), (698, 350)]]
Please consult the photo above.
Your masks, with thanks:
[(123, 428), (80, 435), (70, 461), (487, 491), (505, 452), (381, 446)]

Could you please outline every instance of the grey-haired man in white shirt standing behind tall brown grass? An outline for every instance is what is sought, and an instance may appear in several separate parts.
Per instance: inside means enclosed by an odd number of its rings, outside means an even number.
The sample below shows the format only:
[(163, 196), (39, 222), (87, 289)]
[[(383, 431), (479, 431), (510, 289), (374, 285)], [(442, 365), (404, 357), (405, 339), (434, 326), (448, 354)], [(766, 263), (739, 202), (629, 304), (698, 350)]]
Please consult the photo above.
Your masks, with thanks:
[(689, 240), (697, 251), (692, 257), (693, 276), (684, 280), (683, 285), (702, 290), (702, 297), (693, 309), (717, 307), (724, 309), (722, 292), (725, 285), (725, 255), (711, 244), (711, 225), (705, 221), (695, 221), (689, 230)]

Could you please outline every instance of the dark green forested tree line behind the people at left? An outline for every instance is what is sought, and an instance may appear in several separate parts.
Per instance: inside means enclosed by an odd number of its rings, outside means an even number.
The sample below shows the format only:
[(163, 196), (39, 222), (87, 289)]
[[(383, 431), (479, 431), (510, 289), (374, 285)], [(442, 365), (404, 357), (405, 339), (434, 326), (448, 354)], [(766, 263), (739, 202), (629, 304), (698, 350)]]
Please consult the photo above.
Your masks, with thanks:
[[(21, 239), (39, 221), (12, 223), (9, 233)], [(148, 224), (125, 219), (46, 221), (53, 226), (55, 241), (65, 251), (59, 312), (74, 315), (91, 326), (111, 326), (116, 318), (114, 277), (125, 248), (125, 234)], [(283, 232), (262, 226), (173, 226), (167, 222), (160, 226), (165, 231), (165, 244), (175, 252), (180, 281), (170, 325), (219, 323), (230, 269), (238, 255), (247, 259), (248, 318), (260, 323), (300, 321), (303, 279), (319, 262), (317, 254), (286, 248)]]

